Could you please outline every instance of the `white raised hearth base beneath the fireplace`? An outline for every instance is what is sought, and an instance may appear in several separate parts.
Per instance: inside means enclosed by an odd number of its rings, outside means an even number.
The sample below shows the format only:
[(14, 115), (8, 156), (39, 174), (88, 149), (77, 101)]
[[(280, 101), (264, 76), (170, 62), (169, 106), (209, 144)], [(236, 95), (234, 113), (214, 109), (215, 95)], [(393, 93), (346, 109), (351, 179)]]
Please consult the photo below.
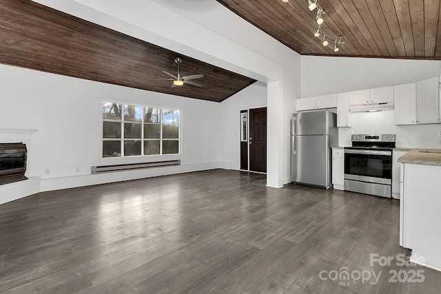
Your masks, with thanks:
[(39, 193), (40, 181), (40, 177), (29, 177), (28, 180), (1, 185), (0, 204)]

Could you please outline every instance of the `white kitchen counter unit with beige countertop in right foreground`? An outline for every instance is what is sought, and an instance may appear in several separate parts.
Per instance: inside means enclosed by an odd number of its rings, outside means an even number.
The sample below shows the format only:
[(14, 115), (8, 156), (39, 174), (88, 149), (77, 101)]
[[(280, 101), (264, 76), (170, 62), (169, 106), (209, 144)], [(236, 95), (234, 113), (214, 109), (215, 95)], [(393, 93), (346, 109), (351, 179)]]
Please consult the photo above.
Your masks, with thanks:
[(398, 159), (400, 245), (411, 262), (441, 271), (441, 150), (412, 149)]

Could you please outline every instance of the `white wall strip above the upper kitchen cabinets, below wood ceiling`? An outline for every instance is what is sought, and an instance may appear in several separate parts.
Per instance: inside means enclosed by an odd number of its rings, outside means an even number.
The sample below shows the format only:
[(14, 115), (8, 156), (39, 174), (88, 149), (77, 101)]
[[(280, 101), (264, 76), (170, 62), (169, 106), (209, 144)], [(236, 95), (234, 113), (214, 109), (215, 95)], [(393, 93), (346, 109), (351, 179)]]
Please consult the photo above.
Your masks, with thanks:
[(402, 85), (438, 76), (441, 61), (302, 56), (302, 97)]

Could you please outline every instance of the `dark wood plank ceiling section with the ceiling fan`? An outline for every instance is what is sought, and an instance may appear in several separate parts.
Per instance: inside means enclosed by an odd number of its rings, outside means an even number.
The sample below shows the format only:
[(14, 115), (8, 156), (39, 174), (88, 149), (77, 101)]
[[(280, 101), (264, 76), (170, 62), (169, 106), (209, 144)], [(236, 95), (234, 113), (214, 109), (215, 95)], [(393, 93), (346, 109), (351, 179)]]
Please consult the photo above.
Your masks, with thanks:
[[(30, 0), (0, 0), (0, 63), (220, 102), (255, 82)], [(162, 71), (203, 74), (203, 87), (171, 87)], [(164, 78), (162, 80), (162, 78)], [(25, 85), (23, 85), (25, 86)]]

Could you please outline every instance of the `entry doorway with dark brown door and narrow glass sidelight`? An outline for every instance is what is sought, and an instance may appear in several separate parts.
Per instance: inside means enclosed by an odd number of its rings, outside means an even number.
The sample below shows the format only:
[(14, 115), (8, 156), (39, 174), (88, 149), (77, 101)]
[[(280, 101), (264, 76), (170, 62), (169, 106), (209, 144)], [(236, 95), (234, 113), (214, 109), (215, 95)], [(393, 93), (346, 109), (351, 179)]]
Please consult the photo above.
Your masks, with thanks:
[[(244, 113), (248, 112), (248, 136), (244, 138)], [(267, 107), (243, 110), (241, 114), (242, 138), (240, 142), (240, 169), (267, 172)], [(246, 135), (245, 135), (246, 136)], [(249, 155), (249, 156), (248, 156)]]

